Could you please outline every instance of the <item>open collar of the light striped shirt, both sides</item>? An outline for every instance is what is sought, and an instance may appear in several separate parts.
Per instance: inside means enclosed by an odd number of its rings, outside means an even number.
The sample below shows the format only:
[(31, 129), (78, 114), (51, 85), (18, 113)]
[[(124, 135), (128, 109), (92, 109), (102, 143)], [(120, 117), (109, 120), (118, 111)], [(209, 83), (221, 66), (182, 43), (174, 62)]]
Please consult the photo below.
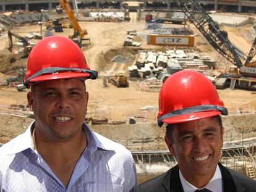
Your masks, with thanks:
[[(35, 121), (33, 121), (29, 125), (29, 127), (24, 133), (17, 136), (14, 140), (11, 140), (8, 142), (8, 145), (10, 146), (10, 148), (7, 151), (7, 155), (16, 154), (18, 152), (25, 151), (26, 149), (31, 149), (32, 151), (35, 151), (35, 146), (33, 144), (33, 138), (32, 138), (32, 130), (33, 130), (34, 122)], [(87, 136), (88, 148), (92, 148), (93, 151), (96, 151), (97, 149), (114, 151), (113, 144), (108, 144), (108, 142), (104, 142), (103, 144), (101, 142), (101, 139), (107, 140), (106, 138), (104, 138), (101, 135), (98, 135), (97, 133), (94, 133), (92, 130), (90, 130), (90, 128), (85, 123), (83, 123), (82, 127)]]

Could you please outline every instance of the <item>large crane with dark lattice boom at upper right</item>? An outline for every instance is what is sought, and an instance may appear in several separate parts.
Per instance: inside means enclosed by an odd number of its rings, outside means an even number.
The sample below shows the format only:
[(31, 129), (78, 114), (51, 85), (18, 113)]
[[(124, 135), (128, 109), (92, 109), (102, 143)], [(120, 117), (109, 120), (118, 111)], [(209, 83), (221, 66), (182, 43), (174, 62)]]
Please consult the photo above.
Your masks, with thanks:
[(231, 89), (236, 87), (256, 90), (256, 67), (255, 62), (251, 62), (256, 54), (256, 38), (245, 64), (242, 64), (241, 59), (246, 58), (245, 54), (229, 41), (228, 33), (211, 19), (196, 0), (174, 0), (174, 2), (181, 7), (187, 19), (194, 23), (213, 48), (233, 64), (228, 73), (221, 75), (216, 80), (216, 88), (223, 89), (229, 86)]

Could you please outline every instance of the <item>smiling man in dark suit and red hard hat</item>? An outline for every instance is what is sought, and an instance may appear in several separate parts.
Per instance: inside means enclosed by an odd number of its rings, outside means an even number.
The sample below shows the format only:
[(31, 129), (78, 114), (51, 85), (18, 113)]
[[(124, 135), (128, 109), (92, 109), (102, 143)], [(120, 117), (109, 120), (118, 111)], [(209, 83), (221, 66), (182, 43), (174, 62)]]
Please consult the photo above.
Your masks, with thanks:
[(224, 167), (220, 115), (228, 115), (215, 87), (193, 70), (171, 75), (159, 96), (158, 125), (166, 125), (165, 142), (178, 164), (139, 185), (137, 191), (252, 192), (256, 182)]

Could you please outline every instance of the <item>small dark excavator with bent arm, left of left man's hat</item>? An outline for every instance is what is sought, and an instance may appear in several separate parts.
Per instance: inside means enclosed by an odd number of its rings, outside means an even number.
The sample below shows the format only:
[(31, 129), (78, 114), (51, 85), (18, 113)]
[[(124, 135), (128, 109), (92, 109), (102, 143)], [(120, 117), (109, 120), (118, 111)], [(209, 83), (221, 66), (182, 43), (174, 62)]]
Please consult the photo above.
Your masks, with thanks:
[(24, 38), (23, 36), (20, 36), (19, 34), (15, 33), (14, 31), (8, 30), (8, 39), (9, 39), (9, 51), (12, 51), (13, 48), (13, 40), (12, 40), (12, 36), (14, 36), (15, 38), (17, 38), (19, 40), (18, 42), (18, 46), (21, 45), (22, 48), (18, 49), (20, 57), (28, 57), (28, 54), (30, 53), (31, 49), (32, 49), (32, 45), (30, 44), (30, 42)]

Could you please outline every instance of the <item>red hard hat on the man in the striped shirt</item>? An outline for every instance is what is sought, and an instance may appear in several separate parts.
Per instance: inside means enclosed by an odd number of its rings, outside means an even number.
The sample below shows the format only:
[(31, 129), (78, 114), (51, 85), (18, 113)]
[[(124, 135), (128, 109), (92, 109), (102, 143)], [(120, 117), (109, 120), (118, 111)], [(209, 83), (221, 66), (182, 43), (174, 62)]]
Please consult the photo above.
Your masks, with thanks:
[(98, 72), (90, 70), (83, 52), (74, 41), (64, 36), (49, 36), (39, 41), (30, 52), (23, 84), (29, 88), (40, 81), (96, 79), (97, 76)]

